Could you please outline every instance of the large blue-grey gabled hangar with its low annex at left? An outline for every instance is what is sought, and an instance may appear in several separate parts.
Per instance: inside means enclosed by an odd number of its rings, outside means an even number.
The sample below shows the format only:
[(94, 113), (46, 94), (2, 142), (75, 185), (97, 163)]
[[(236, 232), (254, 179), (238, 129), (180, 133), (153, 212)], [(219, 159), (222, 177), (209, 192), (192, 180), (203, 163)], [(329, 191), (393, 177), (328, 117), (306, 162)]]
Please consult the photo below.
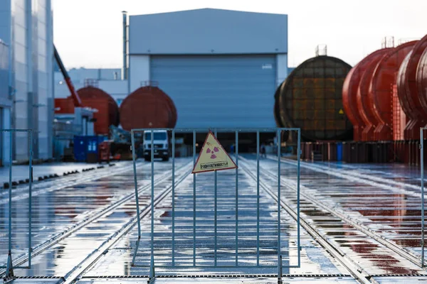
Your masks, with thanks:
[[(126, 34), (126, 33), (125, 33)], [(176, 127), (274, 127), (274, 93), (288, 77), (288, 16), (196, 9), (129, 16), (120, 70), (70, 70), (120, 104), (154, 81), (172, 98)], [(56, 72), (57, 97), (69, 92)]]

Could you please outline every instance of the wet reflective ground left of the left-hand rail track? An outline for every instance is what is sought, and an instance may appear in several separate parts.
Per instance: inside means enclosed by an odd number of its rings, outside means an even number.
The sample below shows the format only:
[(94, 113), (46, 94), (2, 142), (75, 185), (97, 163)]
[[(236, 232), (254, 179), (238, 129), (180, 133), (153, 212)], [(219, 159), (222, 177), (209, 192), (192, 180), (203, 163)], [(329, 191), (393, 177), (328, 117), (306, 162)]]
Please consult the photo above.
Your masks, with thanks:
[[(184, 162), (184, 161), (183, 161)], [(127, 170), (118, 171), (114, 170), (116, 174), (111, 173), (110, 168), (102, 169), (107, 172), (107, 178), (94, 179), (90, 182), (82, 182), (73, 187), (65, 187), (59, 190), (49, 190), (42, 192), (40, 195), (33, 197), (33, 214), (32, 214), (32, 247), (36, 247), (43, 242), (48, 241), (53, 236), (61, 234), (61, 232), (73, 228), (77, 223), (83, 222), (85, 219), (93, 215), (95, 212), (100, 212), (101, 209), (105, 208), (113, 202), (117, 202), (122, 197), (135, 192), (135, 185), (133, 179), (132, 163), (128, 163), (129, 167)], [(148, 163), (139, 163), (137, 165), (139, 186), (147, 185), (151, 178), (148, 168)], [(176, 166), (179, 167), (181, 163)], [(160, 163), (157, 170), (154, 172), (155, 177), (163, 175), (165, 170), (171, 170), (169, 163)], [(101, 173), (101, 172), (100, 172)], [(14, 197), (17, 194), (14, 192)], [(3, 197), (7, 199), (8, 197)], [(1, 201), (1, 200), (0, 200)], [(3, 232), (7, 232), (9, 215), (7, 211), (7, 204), (0, 203), (0, 229)], [(19, 198), (12, 202), (12, 254), (14, 258), (23, 255), (28, 251), (28, 198)], [(135, 207), (132, 209), (132, 214), (135, 214)], [(117, 211), (113, 214), (117, 214)], [(61, 251), (60, 247), (72, 247), (75, 245), (79, 247), (80, 244), (86, 245), (88, 249), (92, 249), (96, 244), (102, 242), (105, 234), (111, 234), (110, 229), (117, 230), (122, 226), (123, 222), (127, 222), (129, 214), (120, 215), (112, 224), (117, 222), (115, 226), (108, 228), (107, 224), (102, 224), (101, 233), (94, 235), (91, 231), (91, 226), (86, 226), (83, 230), (78, 231), (78, 234), (73, 234), (77, 240), (70, 243), (73, 239), (67, 238), (63, 242), (59, 243), (53, 248), (54, 251)], [(102, 220), (100, 220), (102, 222)], [(7, 236), (7, 234), (6, 234)], [(8, 246), (7, 237), (0, 239), (0, 261), (1, 263), (6, 262), (6, 253)], [(89, 239), (88, 239), (89, 238)], [(94, 239), (94, 240), (93, 240)], [(92, 242), (93, 241), (93, 242)], [(86, 253), (87, 251), (85, 251)], [(46, 252), (47, 254), (51, 252)], [(53, 258), (64, 258), (63, 254), (58, 253)], [(83, 253), (80, 258), (84, 258)], [(51, 256), (46, 256), (47, 259), (51, 259)], [(66, 258), (66, 257), (65, 257)], [(41, 261), (43, 266), (38, 266), (38, 259), (35, 258), (33, 263), (33, 269), (29, 271), (23, 271), (25, 275), (56, 275), (58, 270), (61, 272), (69, 271), (70, 265), (75, 265), (73, 260), (78, 259), (78, 253), (74, 256), (70, 256), (68, 259), (69, 265), (63, 266), (55, 263), (45, 263)], [(4, 265), (4, 264), (2, 264)], [(53, 271), (48, 272), (48, 268), (53, 268)], [(36, 273), (33, 273), (36, 271)]]

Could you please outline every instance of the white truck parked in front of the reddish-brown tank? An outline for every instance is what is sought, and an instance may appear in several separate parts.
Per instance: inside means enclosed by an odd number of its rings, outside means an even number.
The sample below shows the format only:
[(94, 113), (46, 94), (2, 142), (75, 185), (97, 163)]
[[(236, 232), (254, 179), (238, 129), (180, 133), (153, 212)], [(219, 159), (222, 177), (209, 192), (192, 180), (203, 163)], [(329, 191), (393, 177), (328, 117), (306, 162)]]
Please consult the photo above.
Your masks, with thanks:
[[(151, 160), (151, 133), (152, 131), (144, 132), (144, 159)], [(154, 158), (162, 158), (162, 160), (169, 160), (169, 137), (165, 130), (153, 131), (153, 145), (154, 145)]]

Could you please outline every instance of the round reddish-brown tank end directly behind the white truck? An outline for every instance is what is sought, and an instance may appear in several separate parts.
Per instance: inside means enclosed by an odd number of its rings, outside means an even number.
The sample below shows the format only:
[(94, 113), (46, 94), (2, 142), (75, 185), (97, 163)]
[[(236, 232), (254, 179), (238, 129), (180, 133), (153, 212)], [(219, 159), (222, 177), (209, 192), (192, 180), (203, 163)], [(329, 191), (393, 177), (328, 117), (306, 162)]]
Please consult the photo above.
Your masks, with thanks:
[(174, 128), (176, 119), (174, 102), (159, 87), (140, 87), (120, 104), (120, 124), (127, 131)]

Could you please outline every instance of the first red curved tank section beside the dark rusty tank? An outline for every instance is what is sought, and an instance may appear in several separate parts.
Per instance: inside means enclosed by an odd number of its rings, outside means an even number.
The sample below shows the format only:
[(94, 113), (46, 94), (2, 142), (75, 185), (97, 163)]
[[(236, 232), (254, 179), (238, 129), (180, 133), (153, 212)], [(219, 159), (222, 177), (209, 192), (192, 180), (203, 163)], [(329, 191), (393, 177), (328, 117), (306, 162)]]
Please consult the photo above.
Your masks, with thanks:
[[(387, 48), (387, 50), (388, 49), (389, 48)], [(347, 114), (349, 120), (352, 121), (353, 124), (354, 141), (362, 140), (362, 131), (366, 126), (357, 109), (357, 90), (359, 89), (359, 83), (364, 71), (369, 66), (369, 62), (382, 54), (384, 54), (383, 50), (376, 50), (374, 53), (362, 59), (362, 61), (357, 63), (357, 65), (350, 70), (349, 74), (347, 74), (344, 85), (342, 86), (342, 104), (345, 114)]]

